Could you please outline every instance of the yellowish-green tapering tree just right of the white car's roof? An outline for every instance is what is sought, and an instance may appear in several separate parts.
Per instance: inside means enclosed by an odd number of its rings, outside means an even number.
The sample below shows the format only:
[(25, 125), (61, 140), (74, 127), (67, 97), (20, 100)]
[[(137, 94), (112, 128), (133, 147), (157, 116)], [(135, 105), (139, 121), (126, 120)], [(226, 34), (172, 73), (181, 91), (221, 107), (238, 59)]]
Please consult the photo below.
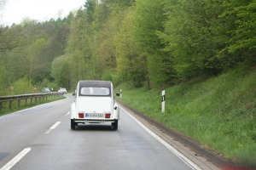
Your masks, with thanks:
[(142, 87), (147, 75), (146, 57), (138, 54), (136, 42), (132, 36), (134, 30), (132, 12), (131, 9), (127, 11), (125, 19), (121, 22), (122, 27), (115, 37), (117, 72), (119, 81), (133, 82), (135, 87)]

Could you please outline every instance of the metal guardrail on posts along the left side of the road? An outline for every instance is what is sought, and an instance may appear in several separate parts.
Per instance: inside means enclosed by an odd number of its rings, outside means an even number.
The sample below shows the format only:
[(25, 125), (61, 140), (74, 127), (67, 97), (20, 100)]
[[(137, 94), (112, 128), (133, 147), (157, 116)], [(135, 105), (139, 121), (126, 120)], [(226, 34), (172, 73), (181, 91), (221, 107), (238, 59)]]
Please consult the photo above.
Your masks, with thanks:
[(55, 96), (63, 95), (63, 93), (47, 93), (47, 94), (22, 94), (22, 95), (14, 95), (14, 96), (0, 96), (0, 111), (3, 109), (3, 102), (9, 102), (9, 110), (12, 109), (12, 102), (18, 101), (18, 107), (20, 108), (20, 100), (25, 99), (25, 105), (27, 105), (27, 100), (30, 99), (30, 103), (32, 104), (32, 100), (34, 99), (35, 103), (41, 100), (46, 100), (48, 97), (54, 98)]

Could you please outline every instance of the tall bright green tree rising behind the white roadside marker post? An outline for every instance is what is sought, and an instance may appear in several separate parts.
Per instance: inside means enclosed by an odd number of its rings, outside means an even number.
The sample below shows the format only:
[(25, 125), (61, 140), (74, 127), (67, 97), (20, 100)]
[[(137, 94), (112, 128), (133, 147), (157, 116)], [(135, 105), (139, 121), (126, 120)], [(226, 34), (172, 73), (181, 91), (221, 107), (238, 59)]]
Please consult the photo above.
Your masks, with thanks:
[(146, 68), (150, 80), (148, 88), (174, 82), (172, 56), (161, 50), (164, 46), (157, 34), (159, 31), (164, 31), (165, 5), (166, 1), (160, 0), (136, 2), (134, 38), (137, 48), (146, 56)]

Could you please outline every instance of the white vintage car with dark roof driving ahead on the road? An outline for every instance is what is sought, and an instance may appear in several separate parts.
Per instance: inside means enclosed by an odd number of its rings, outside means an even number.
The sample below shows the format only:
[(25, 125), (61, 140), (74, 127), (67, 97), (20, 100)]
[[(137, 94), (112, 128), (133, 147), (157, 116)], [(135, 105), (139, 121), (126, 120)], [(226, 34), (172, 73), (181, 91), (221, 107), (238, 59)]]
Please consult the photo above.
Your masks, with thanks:
[(111, 122), (113, 130), (117, 130), (119, 106), (113, 96), (112, 82), (80, 81), (71, 105), (71, 128), (79, 123)]

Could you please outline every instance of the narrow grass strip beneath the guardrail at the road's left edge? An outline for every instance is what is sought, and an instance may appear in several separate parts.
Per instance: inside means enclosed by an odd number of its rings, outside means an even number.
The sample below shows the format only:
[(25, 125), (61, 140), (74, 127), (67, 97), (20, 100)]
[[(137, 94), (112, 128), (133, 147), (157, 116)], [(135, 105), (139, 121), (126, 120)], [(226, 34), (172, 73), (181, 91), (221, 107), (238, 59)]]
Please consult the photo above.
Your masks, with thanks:
[(6, 114), (9, 114), (9, 113), (12, 113), (12, 112), (15, 112), (15, 111), (21, 111), (21, 110), (24, 110), (24, 109), (27, 109), (27, 108), (30, 108), (30, 107), (33, 107), (33, 106), (36, 106), (36, 105), (43, 105), (43, 104), (46, 104), (46, 103), (50, 103), (50, 102), (53, 102), (53, 101), (56, 101), (56, 100), (60, 100), (60, 99), (65, 99), (65, 97), (57, 97), (57, 98), (53, 98), (53, 99), (48, 99), (48, 100), (42, 100), (42, 101), (38, 101), (38, 102), (35, 102), (33, 100), (32, 104), (25, 104), (25, 100), (20, 100), (20, 108), (18, 107), (18, 101), (13, 101), (12, 102), (12, 109), (9, 110), (9, 102), (4, 102), (3, 103), (3, 110), (0, 111), (0, 116), (3, 116), (3, 115), (6, 115)]

